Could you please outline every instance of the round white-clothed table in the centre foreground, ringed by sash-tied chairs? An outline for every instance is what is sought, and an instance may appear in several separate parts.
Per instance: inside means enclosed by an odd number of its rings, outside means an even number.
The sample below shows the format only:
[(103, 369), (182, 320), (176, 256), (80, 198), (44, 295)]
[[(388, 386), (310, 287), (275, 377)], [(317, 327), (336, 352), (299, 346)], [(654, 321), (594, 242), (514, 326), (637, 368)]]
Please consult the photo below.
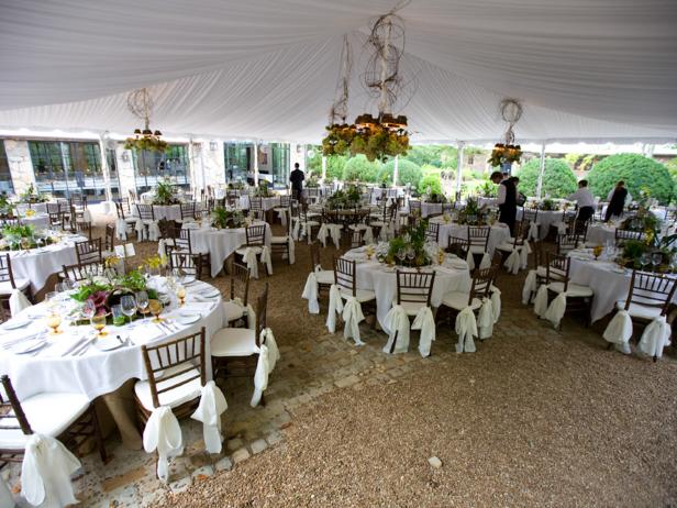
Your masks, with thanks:
[[(367, 261), (366, 247), (353, 249), (343, 255), (346, 259), (356, 261), (356, 278), (358, 289), (370, 289), (376, 292), (376, 317), (381, 329), (389, 333), (386, 327), (386, 316), (397, 301), (397, 275), (395, 268), (389, 268), (376, 259)], [(412, 268), (400, 268), (412, 269)], [(445, 263), (422, 268), (435, 270), (435, 281), (431, 296), (431, 305), (440, 307), (444, 295), (450, 291), (469, 291), (471, 285), (470, 272), (465, 261), (447, 254)]]

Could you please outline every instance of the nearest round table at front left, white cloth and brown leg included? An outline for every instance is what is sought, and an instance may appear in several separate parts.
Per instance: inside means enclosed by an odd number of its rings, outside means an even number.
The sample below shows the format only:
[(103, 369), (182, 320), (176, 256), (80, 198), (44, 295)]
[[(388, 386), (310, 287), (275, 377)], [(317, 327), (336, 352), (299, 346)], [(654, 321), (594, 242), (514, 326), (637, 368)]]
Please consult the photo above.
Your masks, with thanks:
[[(156, 279), (151, 284), (158, 284), (160, 287), (164, 279)], [(115, 398), (113, 393), (131, 379), (146, 379), (146, 371), (141, 352), (142, 345), (156, 345), (171, 341), (191, 333), (198, 333), (201, 327), (206, 328), (206, 352), (207, 352), (207, 374), (211, 378), (211, 362), (209, 353), (209, 341), (211, 336), (223, 325), (223, 306), (221, 295), (206, 297), (202, 294), (218, 290), (206, 283), (193, 283), (186, 287), (187, 298), (181, 312), (200, 316), (200, 319), (192, 324), (182, 324), (176, 317), (178, 309), (176, 306), (167, 307), (163, 312), (163, 318), (169, 318), (167, 322), (173, 327), (173, 331), (151, 322), (151, 319), (134, 321), (132, 324), (123, 327), (107, 325), (107, 339), (114, 339), (120, 335), (130, 343), (120, 345), (110, 351), (102, 351), (98, 339), (95, 338), (93, 329), (89, 325), (74, 327), (63, 322), (58, 335), (42, 334), (46, 339), (46, 345), (35, 354), (21, 354), (22, 342), (29, 341), (31, 335), (43, 333), (46, 327), (43, 319), (47, 313), (46, 303), (29, 307), (16, 317), (0, 327), (0, 374), (7, 374), (12, 379), (20, 399), (44, 391), (66, 391), (85, 395), (89, 400), (99, 396), (109, 402), (109, 409), (115, 423), (126, 435), (125, 445), (138, 448), (141, 437), (135, 429), (133, 420), (133, 408), (122, 409), (120, 397)], [(75, 308), (77, 302), (68, 295), (59, 295), (59, 305), (64, 310)], [(12, 323), (21, 323), (21, 328), (8, 330)], [(31, 324), (33, 323), (33, 324)], [(25, 341), (22, 341), (26, 338)], [(19, 340), (19, 342), (16, 342)], [(86, 345), (89, 342), (89, 345)], [(110, 342), (110, 340), (109, 340)], [(78, 347), (85, 347), (80, 355)], [(75, 354), (74, 354), (75, 350)], [(129, 405), (129, 401), (124, 404)], [(132, 444), (133, 443), (133, 444)]]

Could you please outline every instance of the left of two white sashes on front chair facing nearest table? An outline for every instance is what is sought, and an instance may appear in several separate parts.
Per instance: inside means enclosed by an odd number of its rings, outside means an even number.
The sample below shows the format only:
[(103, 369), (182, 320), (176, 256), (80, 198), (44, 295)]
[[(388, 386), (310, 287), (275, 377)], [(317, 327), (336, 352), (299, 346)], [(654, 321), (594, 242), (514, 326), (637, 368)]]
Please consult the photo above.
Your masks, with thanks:
[(146, 453), (157, 450), (157, 477), (167, 483), (169, 461), (184, 453), (184, 435), (170, 407), (153, 409), (143, 431), (143, 448)]

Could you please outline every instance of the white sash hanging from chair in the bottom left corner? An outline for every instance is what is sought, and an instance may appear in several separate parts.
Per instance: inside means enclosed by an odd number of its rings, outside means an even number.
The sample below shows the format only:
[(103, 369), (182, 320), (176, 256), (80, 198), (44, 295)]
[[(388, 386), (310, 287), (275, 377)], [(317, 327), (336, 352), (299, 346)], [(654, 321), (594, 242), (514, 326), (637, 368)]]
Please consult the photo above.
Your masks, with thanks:
[(54, 438), (32, 434), (27, 438), (21, 465), (21, 493), (33, 506), (62, 508), (78, 500), (70, 475), (80, 461)]

